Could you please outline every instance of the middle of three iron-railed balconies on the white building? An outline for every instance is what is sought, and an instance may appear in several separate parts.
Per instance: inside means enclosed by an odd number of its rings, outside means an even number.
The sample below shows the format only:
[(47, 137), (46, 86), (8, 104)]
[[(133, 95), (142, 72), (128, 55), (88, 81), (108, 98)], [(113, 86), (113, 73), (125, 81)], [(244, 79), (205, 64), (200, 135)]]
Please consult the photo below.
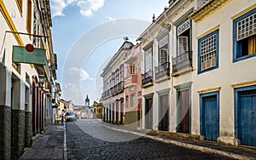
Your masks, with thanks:
[(155, 82), (160, 82), (170, 78), (170, 62), (166, 62), (154, 68)]

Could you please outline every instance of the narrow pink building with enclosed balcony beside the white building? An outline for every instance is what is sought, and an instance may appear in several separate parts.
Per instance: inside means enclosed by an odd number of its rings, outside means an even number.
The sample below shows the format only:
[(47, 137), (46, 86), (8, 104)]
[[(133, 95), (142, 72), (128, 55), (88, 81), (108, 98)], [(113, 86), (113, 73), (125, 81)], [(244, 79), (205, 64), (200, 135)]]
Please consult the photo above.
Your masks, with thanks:
[(142, 45), (137, 43), (125, 54), (125, 124), (141, 127), (142, 114)]

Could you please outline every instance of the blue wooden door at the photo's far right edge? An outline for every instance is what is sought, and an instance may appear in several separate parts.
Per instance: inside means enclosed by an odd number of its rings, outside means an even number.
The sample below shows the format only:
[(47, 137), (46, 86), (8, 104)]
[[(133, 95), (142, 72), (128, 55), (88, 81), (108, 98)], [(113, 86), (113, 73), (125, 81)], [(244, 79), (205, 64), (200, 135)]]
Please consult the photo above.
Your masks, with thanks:
[(256, 146), (256, 90), (239, 94), (238, 138), (242, 145)]

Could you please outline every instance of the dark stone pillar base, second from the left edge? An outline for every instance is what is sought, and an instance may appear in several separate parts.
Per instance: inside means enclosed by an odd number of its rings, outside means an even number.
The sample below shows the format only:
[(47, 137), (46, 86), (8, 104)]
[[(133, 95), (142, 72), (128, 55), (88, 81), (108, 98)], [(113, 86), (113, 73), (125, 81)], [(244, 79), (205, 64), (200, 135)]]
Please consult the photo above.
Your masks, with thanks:
[(25, 111), (12, 110), (12, 159), (18, 159), (24, 151)]

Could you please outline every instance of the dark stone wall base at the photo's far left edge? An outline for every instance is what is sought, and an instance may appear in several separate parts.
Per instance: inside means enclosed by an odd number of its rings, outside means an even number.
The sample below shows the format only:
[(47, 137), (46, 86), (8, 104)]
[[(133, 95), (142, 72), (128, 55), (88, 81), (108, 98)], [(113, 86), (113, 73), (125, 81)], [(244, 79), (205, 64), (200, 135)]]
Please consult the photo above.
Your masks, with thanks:
[(0, 106), (0, 159), (11, 158), (11, 107)]

